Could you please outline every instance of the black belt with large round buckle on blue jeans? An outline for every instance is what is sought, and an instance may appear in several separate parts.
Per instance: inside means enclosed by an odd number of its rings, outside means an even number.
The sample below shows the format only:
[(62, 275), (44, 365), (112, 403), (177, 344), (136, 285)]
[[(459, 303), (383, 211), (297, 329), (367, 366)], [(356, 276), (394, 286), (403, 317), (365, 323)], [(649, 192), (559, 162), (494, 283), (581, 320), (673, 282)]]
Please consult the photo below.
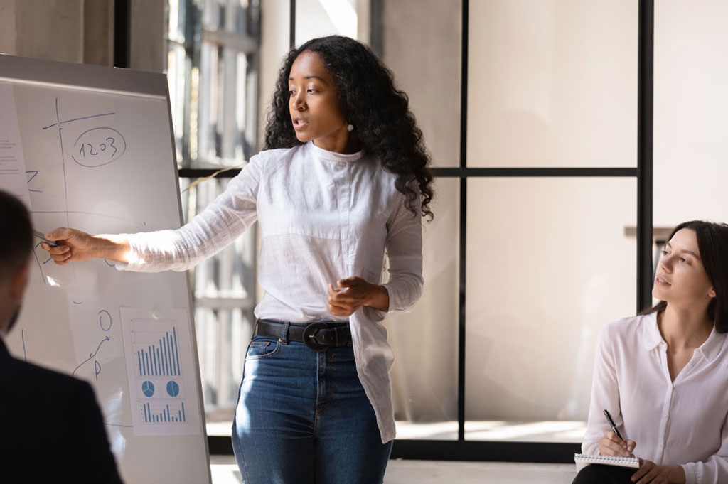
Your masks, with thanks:
[[(285, 329), (288, 327), (288, 331)], [(285, 333), (285, 335), (284, 335)], [(253, 336), (267, 336), (282, 341), (298, 341), (314, 352), (347, 346), (352, 342), (352, 332), (347, 323), (312, 322), (309, 325), (288, 324), (280, 321), (258, 320)]]

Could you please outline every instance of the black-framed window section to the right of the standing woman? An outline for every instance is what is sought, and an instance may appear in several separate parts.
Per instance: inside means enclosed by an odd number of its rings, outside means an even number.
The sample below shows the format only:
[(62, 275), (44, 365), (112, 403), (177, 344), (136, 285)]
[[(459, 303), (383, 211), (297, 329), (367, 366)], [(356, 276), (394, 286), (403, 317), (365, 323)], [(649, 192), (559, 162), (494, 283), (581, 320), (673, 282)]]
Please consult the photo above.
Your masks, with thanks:
[(638, 6), (371, 4), (435, 167), (424, 296), (388, 323), (393, 455), (570, 461), (598, 333), (638, 306)]

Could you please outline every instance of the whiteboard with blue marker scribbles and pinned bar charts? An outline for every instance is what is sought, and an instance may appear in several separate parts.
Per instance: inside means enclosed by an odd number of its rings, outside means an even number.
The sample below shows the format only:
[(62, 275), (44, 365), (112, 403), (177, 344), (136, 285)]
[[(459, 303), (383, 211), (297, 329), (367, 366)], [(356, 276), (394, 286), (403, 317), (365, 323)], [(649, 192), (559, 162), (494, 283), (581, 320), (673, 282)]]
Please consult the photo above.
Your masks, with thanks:
[[(15, 101), (36, 229), (181, 226), (164, 75), (0, 55), (0, 87)], [(1, 108), (9, 104), (6, 96)], [(210, 483), (185, 272), (122, 272), (104, 260), (57, 266), (36, 246), (7, 344), (15, 357), (94, 386), (126, 482)], [(43, 418), (63, 416), (49, 409)]]

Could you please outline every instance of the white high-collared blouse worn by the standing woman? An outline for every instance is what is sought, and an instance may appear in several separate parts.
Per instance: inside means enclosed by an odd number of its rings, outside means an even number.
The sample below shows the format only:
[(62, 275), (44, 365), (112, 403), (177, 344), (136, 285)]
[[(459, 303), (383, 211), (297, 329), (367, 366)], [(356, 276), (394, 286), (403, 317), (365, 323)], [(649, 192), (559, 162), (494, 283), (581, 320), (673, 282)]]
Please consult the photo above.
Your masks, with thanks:
[[(184, 271), (232, 244), (260, 221), (258, 318), (349, 320), (357, 373), (376, 413), (381, 440), (395, 437), (389, 388), (394, 361), (385, 316), (422, 295), (422, 222), (404, 205), (395, 175), (379, 159), (325, 151), (309, 142), (261, 151), (226, 190), (178, 230), (127, 234), (130, 271)], [(328, 285), (344, 277), (379, 284), (389, 257), (389, 313), (369, 307), (349, 318), (328, 311)]]

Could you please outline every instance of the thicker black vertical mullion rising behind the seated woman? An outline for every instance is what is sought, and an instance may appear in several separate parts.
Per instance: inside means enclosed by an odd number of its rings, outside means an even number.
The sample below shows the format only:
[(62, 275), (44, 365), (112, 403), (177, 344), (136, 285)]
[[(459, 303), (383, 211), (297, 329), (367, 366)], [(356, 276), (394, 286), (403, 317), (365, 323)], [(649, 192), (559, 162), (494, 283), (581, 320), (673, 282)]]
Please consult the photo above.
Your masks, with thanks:
[(637, 311), (652, 301), (654, 0), (639, 2), (637, 114)]

